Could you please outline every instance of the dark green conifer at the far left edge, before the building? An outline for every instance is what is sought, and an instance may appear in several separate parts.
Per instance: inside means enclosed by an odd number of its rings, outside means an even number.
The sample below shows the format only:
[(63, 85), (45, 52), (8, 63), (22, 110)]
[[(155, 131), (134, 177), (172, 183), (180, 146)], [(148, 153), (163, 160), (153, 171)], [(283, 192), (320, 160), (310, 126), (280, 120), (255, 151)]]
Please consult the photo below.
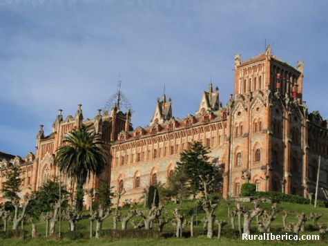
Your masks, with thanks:
[(6, 181), (3, 182), (3, 198), (14, 201), (19, 200), (19, 186), (21, 185), (21, 178), (19, 178), (18, 167), (12, 167), (12, 171), (6, 174)]

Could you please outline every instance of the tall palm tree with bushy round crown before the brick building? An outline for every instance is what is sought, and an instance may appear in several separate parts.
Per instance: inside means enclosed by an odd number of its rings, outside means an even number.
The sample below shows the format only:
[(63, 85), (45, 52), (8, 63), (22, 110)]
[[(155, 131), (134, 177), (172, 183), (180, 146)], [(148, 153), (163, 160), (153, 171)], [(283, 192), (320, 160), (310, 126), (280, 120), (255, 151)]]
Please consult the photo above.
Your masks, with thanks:
[(99, 176), (106, 167), (106, 150), (102, 147), (99, 134), (82, 126), (64, 137), (64, 146), (57, 149), (56, 163), (77, 184), (76, 207), (83, 207), (83, 185), (91, 174)]

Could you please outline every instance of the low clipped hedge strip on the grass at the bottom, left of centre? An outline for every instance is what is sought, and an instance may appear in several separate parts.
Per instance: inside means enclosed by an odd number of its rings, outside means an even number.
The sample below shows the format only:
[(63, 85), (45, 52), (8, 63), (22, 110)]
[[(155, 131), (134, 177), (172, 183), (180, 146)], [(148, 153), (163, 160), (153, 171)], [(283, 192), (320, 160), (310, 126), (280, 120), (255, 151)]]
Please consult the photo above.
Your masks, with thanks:
[(102, 230), (101, 236), (110, 239), (119, 238), (160, 238), (162, 233), (155, 230), (145, 229), (104, 229)]

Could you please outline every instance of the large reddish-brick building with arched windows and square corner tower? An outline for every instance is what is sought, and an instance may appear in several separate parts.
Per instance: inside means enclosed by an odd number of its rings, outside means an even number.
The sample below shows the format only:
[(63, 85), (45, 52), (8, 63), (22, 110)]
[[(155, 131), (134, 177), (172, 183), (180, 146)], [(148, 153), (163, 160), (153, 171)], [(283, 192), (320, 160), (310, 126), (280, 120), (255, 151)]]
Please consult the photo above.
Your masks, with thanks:
[[(157, 99), (155, 112), (144, 128), (131, 127), (131, 112), (114, 106), (92, 119), (83, 120), (81, 106), (75, 117), (64, 120), (59, 111), (50, 135), (42, 126), (35, 155), (19, 158), (0, 153), (0, 183), (12, 165), (21, 169), (22, 193), (37, 190), (46, 178), (58, 176), (55, 150), (65, 133), (92, 125), (108, 144), (108, 168), (88, 187), (108, 183), (124, 187), (123, 197), (139, 200), (142, 191), (155, 182), (165, 183), (174, 171), (180, 153), (200, 141), (211, 151), (211, 161), (220, 165), (222, 193), (238, 196), (242, 178), (249, 175), (258, 190), (283, 191), (306, 196), (314, 192), (321, 155), (319, 186), (328, 189), (328, 125), (318, 111), (308, 113), (302, 101), (303, 63), (296, 68), (266, 51), (242, 61), (235, 55), (234, 95), (222, 106), (218, 88), (209, 84), (202, 93), (195, 115), (173, 117), (173, 103), (166, 95)], [(62, 176), (67, 184), (70, 180)], [(324, 198), (322, 191), (319, 198)]]

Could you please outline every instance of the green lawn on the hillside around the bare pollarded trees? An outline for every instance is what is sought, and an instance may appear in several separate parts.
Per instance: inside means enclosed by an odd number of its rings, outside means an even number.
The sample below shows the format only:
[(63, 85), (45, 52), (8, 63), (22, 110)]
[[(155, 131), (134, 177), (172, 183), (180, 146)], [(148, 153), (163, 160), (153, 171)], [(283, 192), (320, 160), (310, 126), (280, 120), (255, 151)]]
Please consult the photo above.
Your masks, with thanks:
[[(165, 206), (166, 214), (168, 217), (172, 216), (172, 210), (176, 207), (177, 205), (174, 205), (172, 203), (168, 204)], [(193, 201), (189, 202), (184, 202), (182, 205), (182, 209), (185, 211), (188, 208), (194, 207), (195, 203)], [(245, 207), (251, 207), (251, 204), (244, 203)], [(231, 208), (233, 205), (231, 205)], [(262, 204), (261, 207), (264, 209), (268, 209), (269, 211), (271, 210), (271, 205), (269, 204)], [(225, 219), (229, 223), (222, 229), (222, 234), (224, 232), (229, 232), (231, 231), (231, 223), (230, 220), (227, 218), (227, 209), (228, 206), (226, 202), (220, 202), (218, 209), (215, 211), (215, 216), (217, 219)], [(323, 223), (325, 225), (328, 224), (328, 209), (327, 208), (314, 208), (313, 206), (310, 205), (299, 205), (299, 204), (290, 204), (287, 202), (281, 202), (278, 204), (278, 216), (276, 217), (276, 220), (273, 221), (271, 228), (277, 229), (278, 227), (282, 227), (282, 211), (287, 210), (289, 211), (289, 217), (287, 218), (287, 223), (295, 223), (296, 222), (296, 215), (302, 211), (305, 212), (305, 214), (309, 215), (309, 213), (315, 212), (322, 214), (322, 217), (318, 221), (318, 223)], [(128, 211), (128, 209), (123, 209), (122, 213), (125, 214)], [(188, 217), (188, 216), (187, 216)], [(204, 217), (204, 212), (199, 211), (199, 214), (197, 216), (198, 223), (194, 227), (195, 231), (200, 231), (202, 232), (202, 223), (200, 220)], [(137, 219), (137, 217), (135, 217)], [(235, 226), (237, 227), (237, 218), (235, 218)], [(307, 225), (311, 225), (312, 221), (307, 221)], [(255, 229), (256, 221), (255, 219), (252, 222), (252, 227)], [(118, 228), (120, 228), (120, 224), (118, 225)], [(111, 229), (113, 227), (113, 218), (110, 216), (107, 220), (104, 221), (103, 224), (103, 229)], [(8, 226), (10, 228), (10, 225)], [(128, 228), (132, 228), (130, 224), (128, 224)], [(26, 225), (24, 227), (27, 231), (30, 232), (30, 225)], [(58, 229), (58, 224), (56, 226), (56, 229)], [(88, 230), (89, 230), (89, 220), (80, 220), (79, 223), (77, 224), (77, 229), (84, 231), (86, 237), (88, 236)], [(153, 229), (157, 229), (157, 224), (153, 225)], [(215, 227), (217, 229), (217, 227)], [(45, 234), (45, 223), (37, 223), (37, 231), (41, 235), (41, 238), (37, 238), (35, 240), (31, 239), (26, 239), (26, 240), (20, 240), (20, 239), (6, 239), (6, 240), (0, 240), (0, 245), (19, 245), (23, 243), (24, 245), (244, 245), (245, 243), (250, 243), (251, 245), (260, 245), (263, 243), (270, 243), (268, 241), (242, 241), (241, 239), (228, 239), (228, 238), (222, 238), (218, 240), (216, 238), (216, 232), (215, 232), (215, 238), (213, 239), (207, 239), (205, 236), (198, 236), (197, 238), (166, 238), (166, 239), (120, 239), (120, 240), (109, 240), (106, 238), (102, 239), (88, 239), (88, 238), (81, 238), (79, 240), (67, 240), (67, 239), (62, 239), (62, 240), (55, 240), (55, 239), (48, 239), (44, 237)], [(62, 222), (62, 231), (68, 231), (68, 222), (64, 221)], [(173, 227), (171, 224), (167, 224), (164, 227), (164, 231), (168, 233), (172, 233), (174, 231)], [(189, 231), (189, 226), (187, 225), (184, 228), (184, 231)], [(306, 231), (305, 234), (318, 234), (318, 231)], [(29, 238), (29, 235), (28, 235)], [(274, 242), (271, 242), (274, 243)], [(319, 242), (299, 242), (302, 245), (310, 245), (313, 243), (320, 244)], [(322, 243), (322, 242), (321, 242)], [(295, 245), (295, 242), (284, 242), (284, 245)], [(323, 244), (322, 244), (323, 245)]]

